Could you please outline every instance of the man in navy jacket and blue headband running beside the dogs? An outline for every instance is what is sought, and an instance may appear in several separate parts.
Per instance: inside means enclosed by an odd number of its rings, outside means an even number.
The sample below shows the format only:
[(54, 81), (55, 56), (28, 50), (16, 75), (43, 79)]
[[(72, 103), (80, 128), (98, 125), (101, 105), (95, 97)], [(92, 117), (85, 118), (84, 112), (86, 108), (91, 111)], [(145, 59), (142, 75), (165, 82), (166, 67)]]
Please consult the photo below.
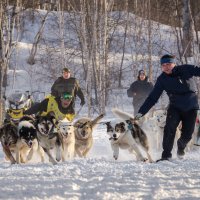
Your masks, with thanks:
[[(135, 119), (140, 119), (158, 101), (165, 90), (169, 97), (166, 125), (163, 136), (163, 152), (160, 160), (172, 157), (176, 128), (182, 122), (181, 136), (177, 141), (177, 156), (183, 158), (185, 147), (194, 132), (197, 110), (199, 109), (197, 85), (194, 76), (200, 76), (200, 68), (194, 65), (176, 66), (175, 57), (164, 55), (160, 59), (162, 73), (157, 78), (152, 92), (140, 107)], [(158, 160), (158, 161), (160, 161)]]

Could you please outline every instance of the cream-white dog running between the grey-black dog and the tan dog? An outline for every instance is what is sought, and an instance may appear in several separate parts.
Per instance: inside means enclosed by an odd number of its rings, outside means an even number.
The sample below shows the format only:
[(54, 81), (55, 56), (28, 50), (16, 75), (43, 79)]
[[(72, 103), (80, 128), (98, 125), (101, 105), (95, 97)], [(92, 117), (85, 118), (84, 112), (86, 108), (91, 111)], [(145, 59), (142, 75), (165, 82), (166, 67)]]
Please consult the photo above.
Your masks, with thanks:
[(75, 153), (74, 126), (68, 120), (63, 119), (58, 123), (58, 132), (62, 137), (62, 161), (65, 161), (67, 158), (72, 159)]

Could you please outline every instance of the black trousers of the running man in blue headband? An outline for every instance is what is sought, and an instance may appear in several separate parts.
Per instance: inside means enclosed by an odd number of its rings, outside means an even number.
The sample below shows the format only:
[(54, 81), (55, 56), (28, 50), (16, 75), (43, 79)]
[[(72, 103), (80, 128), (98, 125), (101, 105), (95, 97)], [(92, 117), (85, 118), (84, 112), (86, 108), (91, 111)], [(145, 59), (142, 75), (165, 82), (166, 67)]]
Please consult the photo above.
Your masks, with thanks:
[(166, 125), (163, 136), (163, 153), (162, 158), (171, 158), (176, 128), (182, 122), (181, 136), (177, 141), (177, 147), (184, 150), (187, 143), (191, 140), (194, 132), (197, 110), (180, 111), (169, 106), (167, 111)]

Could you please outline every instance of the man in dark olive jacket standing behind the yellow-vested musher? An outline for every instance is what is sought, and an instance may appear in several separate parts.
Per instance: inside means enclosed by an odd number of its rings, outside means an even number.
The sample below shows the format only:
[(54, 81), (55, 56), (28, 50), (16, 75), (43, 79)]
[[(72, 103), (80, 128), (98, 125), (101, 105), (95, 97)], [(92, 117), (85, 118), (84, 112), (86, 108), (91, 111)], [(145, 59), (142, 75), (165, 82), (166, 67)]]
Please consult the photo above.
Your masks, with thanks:
[(68, 92), (72, 94), (73, 99), (72, 99), (72, 106), (74, 108), (74, 102), (76, 95), (80, 98), (81, 100), (81, 106), (85, 104), (85, 99), (83, 92), (79, 86), (78, 81), (71, 77), (70, 70), (68, 68), (63, 68), (63, 74), (61, 77), (59, 77), (51, 87), (51, 94), (55, 97), (60, 97), (60, 95), (63, 92)]

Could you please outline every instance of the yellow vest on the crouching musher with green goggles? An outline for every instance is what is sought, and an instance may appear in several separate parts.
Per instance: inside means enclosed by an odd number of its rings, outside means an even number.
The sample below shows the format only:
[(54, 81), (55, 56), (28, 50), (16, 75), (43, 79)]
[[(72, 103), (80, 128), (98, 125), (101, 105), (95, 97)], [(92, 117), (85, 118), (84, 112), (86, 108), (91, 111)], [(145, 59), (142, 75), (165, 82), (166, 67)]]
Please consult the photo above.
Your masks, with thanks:
[(50, 112), (53, 112), (55, 114), (55, 118), (57, 120), (63, 120), (64, 118), (66, 118), (69, 121), (72, 121), (75, 117), (75, 114), (63, 114), (62, 112), (60, 112), (59, 108), (58, 108), (58, 103), (55, 100), (55, 97), (50, 96), (48, 97), (49, 101), (48, 101), (48, 105), (47, 105), (47, 111), (43, 112), (41, 115), (45, 116)]

